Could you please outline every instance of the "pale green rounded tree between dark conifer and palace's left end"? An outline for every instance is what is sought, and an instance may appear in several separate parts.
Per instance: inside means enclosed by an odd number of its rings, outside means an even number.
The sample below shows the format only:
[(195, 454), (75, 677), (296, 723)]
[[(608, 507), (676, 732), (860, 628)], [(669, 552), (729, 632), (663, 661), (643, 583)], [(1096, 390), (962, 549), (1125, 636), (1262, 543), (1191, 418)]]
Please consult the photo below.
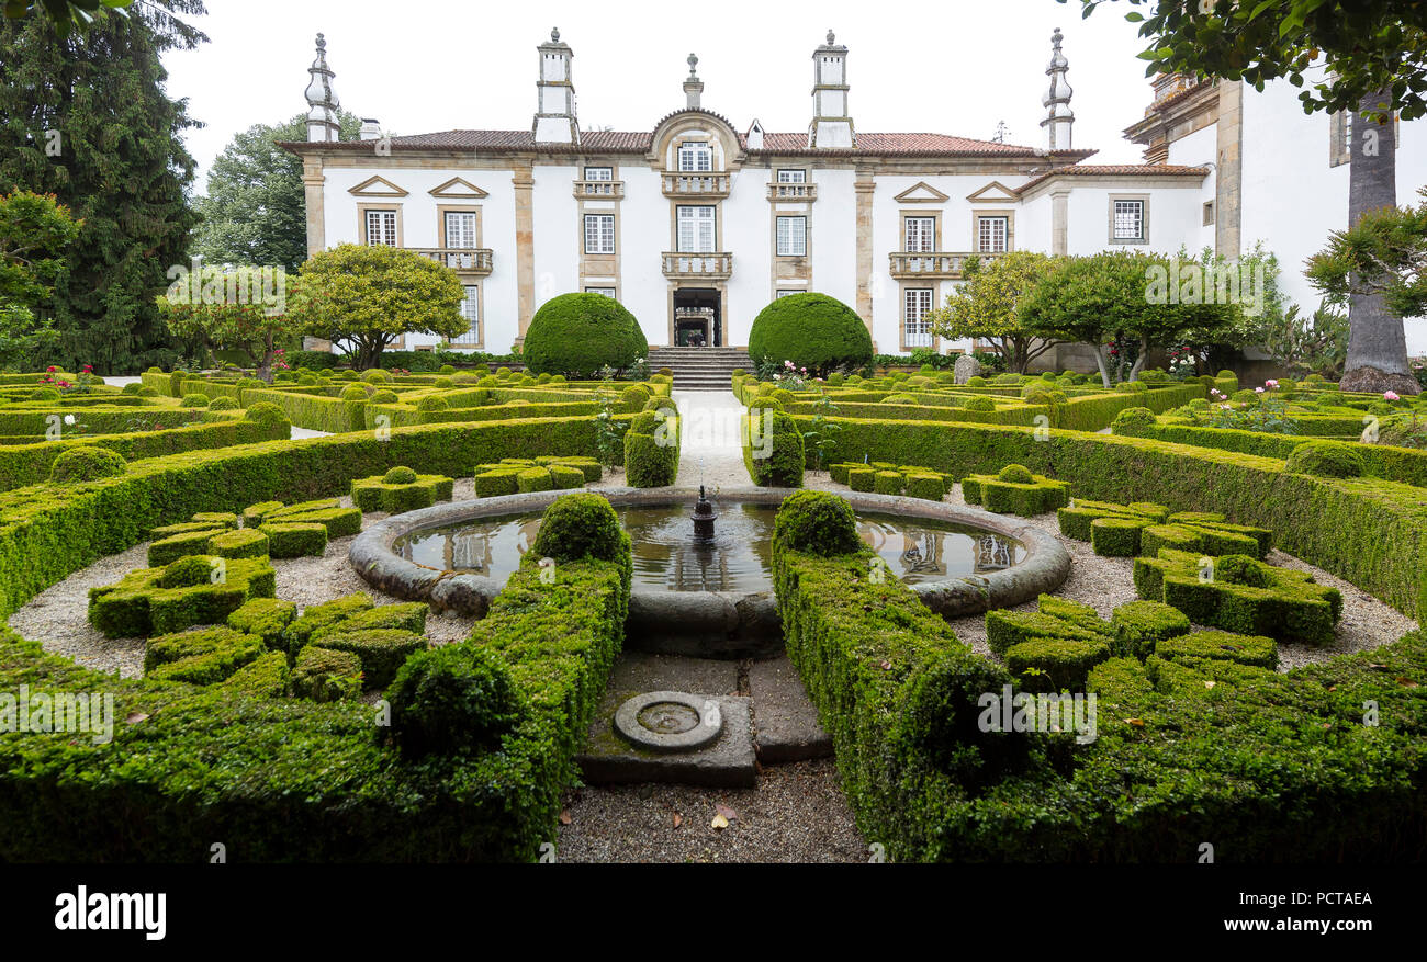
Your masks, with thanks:
[[(341, 111), (341, 138), (357, 140), (361, 118)], [(208, 195), (193, 252), (213, 267), (283, 267), (307, 259), (303, 161), (277, 145), (307, 140), (307, 114), (285, 124), (254, 124), (235, 134), (208, 171)]]

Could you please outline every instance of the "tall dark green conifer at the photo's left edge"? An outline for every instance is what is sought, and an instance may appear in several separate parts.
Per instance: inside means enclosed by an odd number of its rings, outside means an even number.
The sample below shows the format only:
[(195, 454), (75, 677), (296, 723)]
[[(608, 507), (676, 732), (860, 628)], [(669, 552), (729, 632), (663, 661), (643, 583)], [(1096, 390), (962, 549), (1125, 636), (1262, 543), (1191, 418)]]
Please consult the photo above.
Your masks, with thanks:
[(131, 373), (177, 352), (156, 296), (187, 264), (195, 127), (171, 100), (160, 54), (207, 37), (183, 17), (201, 0), (144, 0), (61, 37), (47, 17), (0, 23), (0, 192), (54, 194), (81, 217), (47, 314), (59, 331), (39, 365)]

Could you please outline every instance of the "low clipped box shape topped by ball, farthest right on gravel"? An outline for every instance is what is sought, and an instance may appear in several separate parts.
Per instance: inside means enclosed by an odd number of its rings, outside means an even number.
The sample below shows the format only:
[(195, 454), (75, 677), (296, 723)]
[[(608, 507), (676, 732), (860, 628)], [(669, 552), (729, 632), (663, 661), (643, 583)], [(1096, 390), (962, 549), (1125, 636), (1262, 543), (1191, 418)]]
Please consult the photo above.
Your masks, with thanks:
[(1343, 614), (1337, 589), (1247, 554), (1203, 559), (1164, 547), (1157, 557), (1134, 560), (1134, 590), (1174, 606), (1194, 624), (1280, 641), (1330, 644)]

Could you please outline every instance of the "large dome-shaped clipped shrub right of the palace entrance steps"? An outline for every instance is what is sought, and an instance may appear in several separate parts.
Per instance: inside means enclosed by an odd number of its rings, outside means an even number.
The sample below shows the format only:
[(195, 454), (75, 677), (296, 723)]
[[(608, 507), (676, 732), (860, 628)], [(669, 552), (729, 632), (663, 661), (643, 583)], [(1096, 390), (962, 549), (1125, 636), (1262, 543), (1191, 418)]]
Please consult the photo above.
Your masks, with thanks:
[(778, 298), (753, 318), (748, 353), (755, 363), (792, 361), (818, 376), (872, 362), (872, 335), (858, 312), (826, 294)]

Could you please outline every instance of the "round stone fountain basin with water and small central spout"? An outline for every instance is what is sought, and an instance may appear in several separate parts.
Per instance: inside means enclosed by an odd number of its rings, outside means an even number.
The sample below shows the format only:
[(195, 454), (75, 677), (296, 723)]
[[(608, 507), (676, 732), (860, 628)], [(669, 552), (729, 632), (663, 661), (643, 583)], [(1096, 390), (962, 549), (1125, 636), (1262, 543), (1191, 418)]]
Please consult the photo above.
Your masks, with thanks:
[[(694, 537), (698, 489), (598, 493), (635, 542), (628, 647), (718, 657), (782, 648), (768, 540), (778, 505), (792, 490), (719, 490), (712, 540)], [(1033, 600), (1070, 574), (1060, 543), (1019, 517), (915, 497), (839, 495), (888, 570), (946, 617)], [(484, 616), (534, 543), (539, 514), (559, 496), (505, 495), (395, 514), (362, 532), (348, 557), (380, 591)]]

